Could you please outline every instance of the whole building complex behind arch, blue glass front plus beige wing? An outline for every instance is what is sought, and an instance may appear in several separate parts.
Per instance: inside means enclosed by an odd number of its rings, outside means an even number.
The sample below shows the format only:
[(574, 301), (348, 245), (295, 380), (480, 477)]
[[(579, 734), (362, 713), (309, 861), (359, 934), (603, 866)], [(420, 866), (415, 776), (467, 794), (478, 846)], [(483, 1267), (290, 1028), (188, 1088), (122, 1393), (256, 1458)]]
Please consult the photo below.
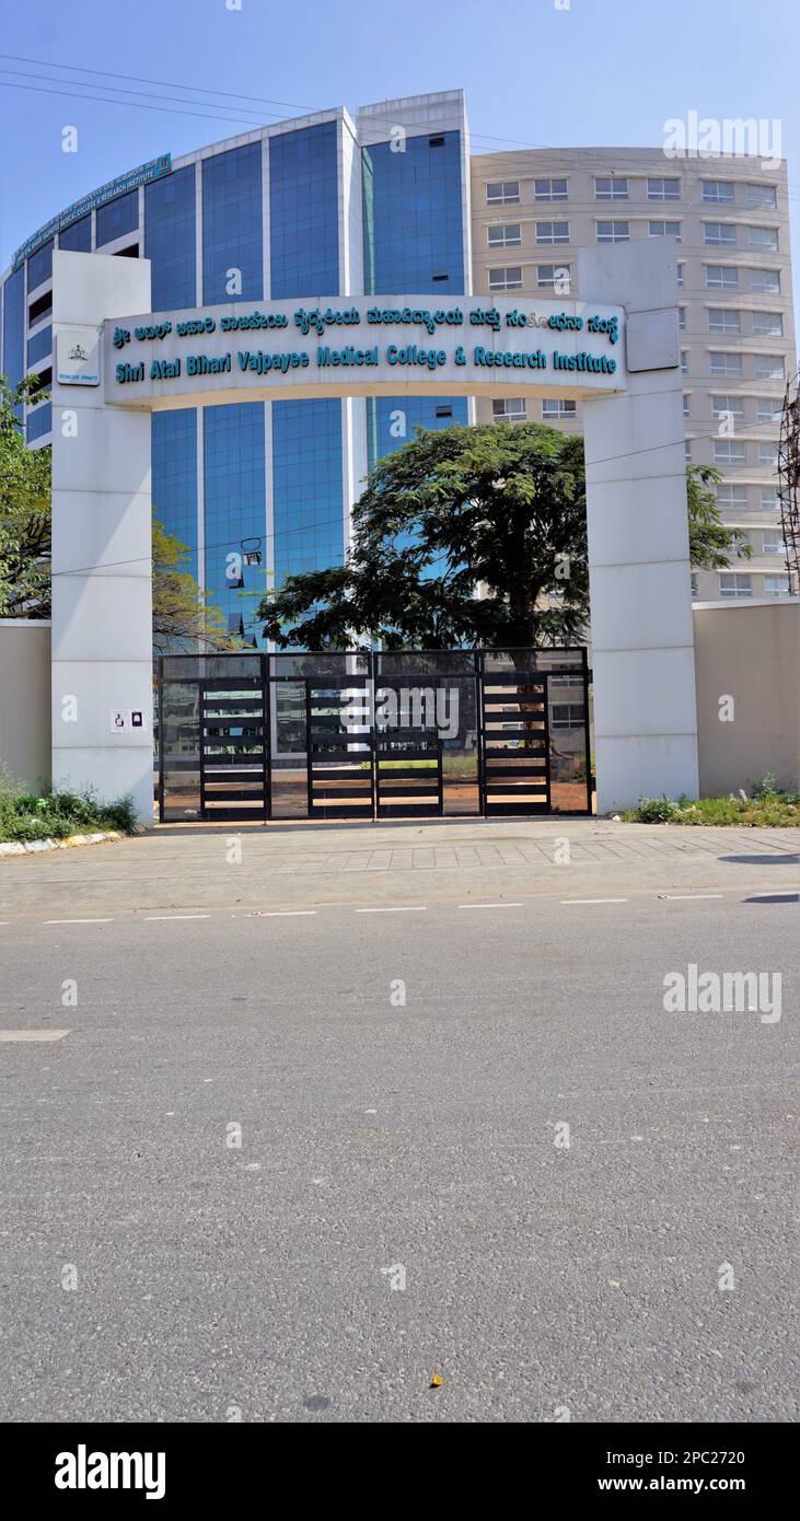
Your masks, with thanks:
[[(2, 280), (2, 370), (52, 377), (53, 248), (146, 257), (152, 309), (418, 292), (437, 304), (520, 292), (578, 297), (576, 249), (680, 242), (686, 455), (724, 472), (725, 522), (754, 557), (697, 595), (780, 595), (786, 573), (774, 455), (794, 367), (786, 172), (744, 158), (669, 160), (651, 149), (563, 149), (470, 158), (461, 91), (295, 117), (102, 187), (33, 234)], [(579, 405), (541, 420), (579, 429)], [(158, 516), (225, 610), (286, 573), (339, 561), (370, 464), (415, 424), (516, 418), (523, 403), (353, 397), (187, 408), (152, 417)], [(50, 438), (50, 406), (27, 440)], [(252, 557), (256, 558), (256, 557)], [(252, 607), (256, 602), (251, 604)]]

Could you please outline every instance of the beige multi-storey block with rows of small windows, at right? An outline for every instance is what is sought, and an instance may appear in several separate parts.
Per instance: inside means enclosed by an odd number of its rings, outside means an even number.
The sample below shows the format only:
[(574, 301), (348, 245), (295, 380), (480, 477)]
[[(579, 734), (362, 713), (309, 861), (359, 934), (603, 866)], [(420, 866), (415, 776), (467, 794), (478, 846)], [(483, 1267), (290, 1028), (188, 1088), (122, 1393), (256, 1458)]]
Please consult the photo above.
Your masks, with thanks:
[[(569, 148), (481, 154), (470, 167), (476, 294), (579, 300), (578, 248), (677, 240), (686, 459), (722, 473), (724, 522), (753, 549), (727, 572), (695, 572), (694, 593), (786, 595), (776, 470), (795, 367), (786, 164)], [(531, 421), (579, 432), (578, 402), (535, 408)], [(478, 417), (523, 418), (525, 402), (479, 402)]]

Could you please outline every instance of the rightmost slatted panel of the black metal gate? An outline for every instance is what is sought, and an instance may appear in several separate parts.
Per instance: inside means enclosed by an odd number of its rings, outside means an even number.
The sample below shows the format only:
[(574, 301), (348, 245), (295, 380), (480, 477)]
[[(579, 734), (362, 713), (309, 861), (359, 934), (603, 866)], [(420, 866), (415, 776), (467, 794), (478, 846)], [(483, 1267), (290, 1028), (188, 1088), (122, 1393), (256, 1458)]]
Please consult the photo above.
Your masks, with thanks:
[(548, 677), (534, 671), (485, 674), (482, 718), (487, 817), (548, 814)]

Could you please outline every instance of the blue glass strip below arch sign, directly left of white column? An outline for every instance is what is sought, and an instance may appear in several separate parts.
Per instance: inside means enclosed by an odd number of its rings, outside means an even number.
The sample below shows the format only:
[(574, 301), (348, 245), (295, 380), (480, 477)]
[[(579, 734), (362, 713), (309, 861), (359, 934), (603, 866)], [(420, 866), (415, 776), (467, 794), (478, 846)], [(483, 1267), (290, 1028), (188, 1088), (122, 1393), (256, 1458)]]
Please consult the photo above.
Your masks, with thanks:
[(272, 403), (275, 587), (342, 564), (342, 403)]

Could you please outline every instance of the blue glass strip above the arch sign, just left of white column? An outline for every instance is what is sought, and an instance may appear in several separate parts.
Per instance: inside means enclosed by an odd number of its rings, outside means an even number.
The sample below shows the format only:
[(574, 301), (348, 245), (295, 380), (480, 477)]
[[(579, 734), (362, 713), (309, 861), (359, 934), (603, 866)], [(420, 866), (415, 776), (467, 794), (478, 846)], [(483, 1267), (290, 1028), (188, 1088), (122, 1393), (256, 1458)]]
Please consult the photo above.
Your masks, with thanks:
[(339, 294), (336, 122), (269, 138), (271, 291)]

